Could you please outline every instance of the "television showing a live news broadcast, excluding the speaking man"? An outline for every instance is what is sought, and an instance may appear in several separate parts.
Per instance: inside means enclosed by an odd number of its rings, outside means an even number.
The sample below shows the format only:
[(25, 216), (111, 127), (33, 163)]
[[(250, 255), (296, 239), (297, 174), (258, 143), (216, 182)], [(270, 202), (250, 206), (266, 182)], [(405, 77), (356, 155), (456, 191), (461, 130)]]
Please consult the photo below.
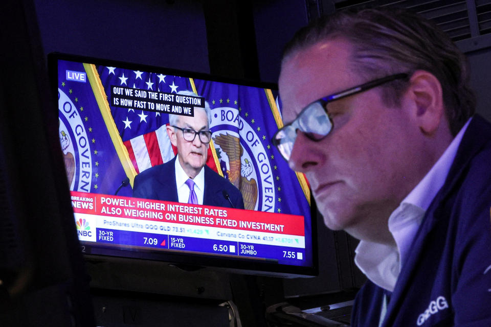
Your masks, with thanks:
[[(65, 164), (60, 173), (68, 178), (83, 253), (317, 274), (308, 183), (271, 143), (282, 126), (276, 85), (58, 53), (48, 61)], [(133, 197), (138, 174), (176, 155), (166, 133), (169, 113), (193, 116), (205, 105), (212, 133), (206, 165), (241, 192), (245, 209)], [(227, 192), (214, 196), (231, 202)]]

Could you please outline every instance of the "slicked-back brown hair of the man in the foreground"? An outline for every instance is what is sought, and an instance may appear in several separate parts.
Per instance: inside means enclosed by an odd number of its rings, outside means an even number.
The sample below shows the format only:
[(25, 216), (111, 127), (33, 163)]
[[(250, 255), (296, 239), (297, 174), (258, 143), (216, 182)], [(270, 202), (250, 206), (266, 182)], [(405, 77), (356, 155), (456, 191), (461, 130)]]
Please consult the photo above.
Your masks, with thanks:
[[(474, 114), (476, 100), (466, 57), (432, 21), (404, 9), (339, 11), (299, 30), (286, 44), (283, 61), (297, 51), (336, 38), (353, 46), (351, 69), (367, 81), (418, 69), (432, 73), (442, 86), (452, 135)], [(399, 80), (384, 87), (387, 105), (399, 104), (405, 85), (407, 81)]]

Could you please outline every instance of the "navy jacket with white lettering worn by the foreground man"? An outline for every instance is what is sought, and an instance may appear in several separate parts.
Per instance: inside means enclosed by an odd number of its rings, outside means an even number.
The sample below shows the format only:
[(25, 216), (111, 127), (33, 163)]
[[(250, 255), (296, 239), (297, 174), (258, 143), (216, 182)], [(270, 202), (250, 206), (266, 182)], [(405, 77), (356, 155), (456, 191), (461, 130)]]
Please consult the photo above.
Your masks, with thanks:
[[(382, 326), (491, 326), (490, 209), (491, 125), (476, 115), (421, 222)], [(383, 294), (370, 281), (363, 286), (353, 326), (378, 326)]]

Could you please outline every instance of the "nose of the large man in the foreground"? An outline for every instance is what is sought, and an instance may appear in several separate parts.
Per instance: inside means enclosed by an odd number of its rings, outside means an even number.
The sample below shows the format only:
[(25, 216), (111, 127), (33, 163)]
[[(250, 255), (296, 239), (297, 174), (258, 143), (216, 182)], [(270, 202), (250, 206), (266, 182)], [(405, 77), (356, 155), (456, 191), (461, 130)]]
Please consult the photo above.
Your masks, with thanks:
[(298, 131), (297, 138), (293, 145), (292, 153), (288, 160), (288, 165), (296, 172), (306, 173), (315, 168), (321, 159), (321, 153), (315, 150), (316, 142)]

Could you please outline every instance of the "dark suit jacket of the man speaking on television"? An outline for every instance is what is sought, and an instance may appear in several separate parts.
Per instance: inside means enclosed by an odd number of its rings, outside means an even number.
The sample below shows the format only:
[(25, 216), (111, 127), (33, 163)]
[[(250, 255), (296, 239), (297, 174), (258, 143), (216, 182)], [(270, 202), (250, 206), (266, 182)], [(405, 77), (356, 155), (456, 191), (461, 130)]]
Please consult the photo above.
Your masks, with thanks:
[[(165, 164), (149, 168), (135, 177), (133, 197), (151, 200), (178, 202), (175, 186), (176, 157)], [(244, 208), (240, 191), (227, 179), (221, 177), (208, 166), (205, 166), (204, 205)], [(230, 201), (224, 195), (226, 191)]]

